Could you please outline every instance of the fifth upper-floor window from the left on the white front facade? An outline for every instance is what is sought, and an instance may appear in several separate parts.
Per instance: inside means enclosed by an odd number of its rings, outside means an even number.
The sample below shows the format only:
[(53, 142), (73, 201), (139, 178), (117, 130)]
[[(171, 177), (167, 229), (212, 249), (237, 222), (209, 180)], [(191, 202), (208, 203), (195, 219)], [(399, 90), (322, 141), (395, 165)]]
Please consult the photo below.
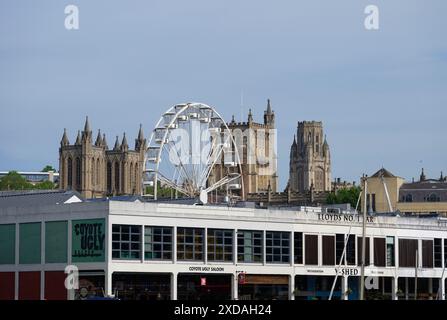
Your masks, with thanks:
[(239, 262), (262, 262), (262, 231), (237, 232), (237, 260)]

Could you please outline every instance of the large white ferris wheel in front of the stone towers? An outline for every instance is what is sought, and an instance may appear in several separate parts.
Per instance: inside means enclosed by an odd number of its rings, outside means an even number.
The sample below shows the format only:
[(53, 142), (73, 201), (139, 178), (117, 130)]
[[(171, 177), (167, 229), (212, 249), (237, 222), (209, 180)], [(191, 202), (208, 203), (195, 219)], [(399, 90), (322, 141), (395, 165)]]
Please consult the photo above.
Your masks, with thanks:
[[(244, 194), (242, 166), (233, 135), (211, 106), (182, 103), (157, 122), (145, 155), (143, 196), (159, 187), (208, 202), (211, 192)], [(153, 194), (145, 194), (147, 187)], [(241, 192), (242, 191), (242, 192)]]

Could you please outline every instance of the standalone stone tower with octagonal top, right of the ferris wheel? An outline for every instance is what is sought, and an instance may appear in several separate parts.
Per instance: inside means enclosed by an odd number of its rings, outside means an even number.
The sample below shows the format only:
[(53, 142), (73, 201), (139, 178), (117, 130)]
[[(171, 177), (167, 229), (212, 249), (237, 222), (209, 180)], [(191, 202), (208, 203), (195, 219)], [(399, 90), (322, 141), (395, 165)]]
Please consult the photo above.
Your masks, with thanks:
[(289, 188), (304, 192), (311, 186), (314, 191), (331, 190), (331, 155), (323, 123), (303, 121), (290, 148)]

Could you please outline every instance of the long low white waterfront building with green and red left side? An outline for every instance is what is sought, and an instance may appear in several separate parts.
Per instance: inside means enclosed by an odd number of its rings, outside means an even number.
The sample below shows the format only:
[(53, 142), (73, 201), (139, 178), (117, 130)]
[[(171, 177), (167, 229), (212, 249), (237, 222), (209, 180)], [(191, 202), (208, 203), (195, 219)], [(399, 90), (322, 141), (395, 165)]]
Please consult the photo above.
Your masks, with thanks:
[[(444, 299), (446, 226), (368, 217), (366, 297)], [(361, 215), (292, 208), (0, 208), (0, 299), (328, 299), (336, 276), (333, 299), (358, 299), (361, 235)], [(79, 269), (77, 290), (65, 289), (67, 265)]]

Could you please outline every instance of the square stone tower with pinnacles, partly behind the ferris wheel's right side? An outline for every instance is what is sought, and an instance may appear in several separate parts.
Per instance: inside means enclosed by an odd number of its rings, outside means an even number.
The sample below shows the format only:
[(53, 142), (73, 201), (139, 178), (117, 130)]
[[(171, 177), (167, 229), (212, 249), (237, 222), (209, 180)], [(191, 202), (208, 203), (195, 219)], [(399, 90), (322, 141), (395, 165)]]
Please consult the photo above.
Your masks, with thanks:
[[(263, 123), (254, 121), (250, 109), (247, 122), (236, 122), (233, 116), (227, 126), (239, 150), (244, 180), (244, 199), (247, 199), (249, 193), (267, 192), (269, 188), (271, 192), (277, 192), (275, 113), (270, 100), (267, 100)], [(225, 175), (224, 170), (226, 168), (223, 165), (216, 165), (209, 181), (219, 181)]]

